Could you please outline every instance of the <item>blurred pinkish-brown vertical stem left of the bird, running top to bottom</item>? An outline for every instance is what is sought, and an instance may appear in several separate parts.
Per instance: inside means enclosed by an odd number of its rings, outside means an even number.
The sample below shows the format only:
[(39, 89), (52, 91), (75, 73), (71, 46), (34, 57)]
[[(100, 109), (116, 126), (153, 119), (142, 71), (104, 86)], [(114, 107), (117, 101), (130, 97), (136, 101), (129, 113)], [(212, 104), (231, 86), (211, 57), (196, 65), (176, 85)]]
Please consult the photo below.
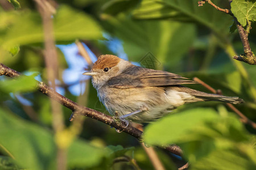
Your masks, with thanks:
[[(53, 18), (55, 14), (55, 8), (45, 0), (35, 0), (38, 5), (38, 11), (43, 21), (43, 32), (44, 32), (44, 60), (47, 67), (47, 78), (50, 88), (55, 90), (55, 80), (57, 79), (58, 73), (58, 60), (57, 50), (55, 46), (55, 37), (53, 31)], [(60, 105), (56, 100), (50, 98), (51, 109), (52, 109), (52, 126), (55, 131), (56, 146), (57, 146), (57, 170), (67, 169), (67, 147), (61, 146), (60, 134), (65, 129), (63, 112), (61, 111)]]

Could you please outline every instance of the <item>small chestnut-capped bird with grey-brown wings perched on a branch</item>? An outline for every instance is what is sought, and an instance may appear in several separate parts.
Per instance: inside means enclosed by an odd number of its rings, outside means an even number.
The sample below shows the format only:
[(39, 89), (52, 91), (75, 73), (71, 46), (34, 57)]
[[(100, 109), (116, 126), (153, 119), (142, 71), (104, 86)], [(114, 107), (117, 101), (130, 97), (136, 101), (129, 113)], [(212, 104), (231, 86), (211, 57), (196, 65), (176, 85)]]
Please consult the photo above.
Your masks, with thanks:
[(208, 94), (181, 86), (197, 82), (167, 71), (135, 66), (110, 54), (98, 57), (92, 70), (83, 74), (92, 76), (93, 87), (108, 112), (118, 113), (126, 122), (151, 122), (180, 105), (197, 101), (243, 103), (239, 97)]

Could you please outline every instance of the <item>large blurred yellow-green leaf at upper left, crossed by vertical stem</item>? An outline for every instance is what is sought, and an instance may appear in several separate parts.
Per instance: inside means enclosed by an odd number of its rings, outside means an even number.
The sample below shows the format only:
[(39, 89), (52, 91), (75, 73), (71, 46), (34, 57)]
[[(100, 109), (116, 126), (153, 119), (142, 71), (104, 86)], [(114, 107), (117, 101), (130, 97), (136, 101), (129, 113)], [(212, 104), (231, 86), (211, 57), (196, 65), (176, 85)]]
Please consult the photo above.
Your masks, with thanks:
[[(0, 47), (3, 49), (10, 50), (16, 45), (44, 41), (42, 19), (38, 13), (28, 10), (26, 12), (11, 11), (1, 16), (3, 18), (0, 23), (5, 25), (2, 28), (5, 31), (0, 33)], [(53, 22), (56, 41), (92, 40), (101, 37), (101, 28), (96, 21), (84, 12), (78, 12), (65, 5), (58, 8), (56, 15), (53, 16)]]

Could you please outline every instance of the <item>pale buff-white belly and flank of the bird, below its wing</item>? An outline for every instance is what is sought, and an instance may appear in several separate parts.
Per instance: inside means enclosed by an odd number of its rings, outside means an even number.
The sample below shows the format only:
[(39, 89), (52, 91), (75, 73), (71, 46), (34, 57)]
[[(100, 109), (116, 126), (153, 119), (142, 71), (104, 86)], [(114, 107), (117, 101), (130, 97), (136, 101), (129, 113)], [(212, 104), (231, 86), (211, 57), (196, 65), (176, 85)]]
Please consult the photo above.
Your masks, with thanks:
[[(98, 93), (99, 94), (99, 93)], [(191, 95), (174, 90), (152, 91), (144, 88), (113, 88), (108, 93), (101, 92), (100, 100), (110, 114), (118, 112), (119, 116), (129, 114), (140, 109), (147, 109), (127, 117), (127, 120), (134, 122), (150, 122), (170, 113), (176, 107), (183, 105), (185, 99)]]

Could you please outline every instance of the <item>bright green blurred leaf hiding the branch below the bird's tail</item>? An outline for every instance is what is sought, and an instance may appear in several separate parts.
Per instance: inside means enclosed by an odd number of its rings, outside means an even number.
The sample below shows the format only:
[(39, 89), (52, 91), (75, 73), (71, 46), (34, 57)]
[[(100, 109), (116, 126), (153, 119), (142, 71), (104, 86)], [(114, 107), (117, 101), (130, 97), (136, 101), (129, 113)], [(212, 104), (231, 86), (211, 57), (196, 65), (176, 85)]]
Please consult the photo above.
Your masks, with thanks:
[(144, 130), (144, 140), (151, 145), (196, 141), (200, 138), (191, 133), (195, 129), (205, 128), (208, 120), (217, 120), (217, 112), (209, 108), (190, 109), (172, 114), (150, 124)]

